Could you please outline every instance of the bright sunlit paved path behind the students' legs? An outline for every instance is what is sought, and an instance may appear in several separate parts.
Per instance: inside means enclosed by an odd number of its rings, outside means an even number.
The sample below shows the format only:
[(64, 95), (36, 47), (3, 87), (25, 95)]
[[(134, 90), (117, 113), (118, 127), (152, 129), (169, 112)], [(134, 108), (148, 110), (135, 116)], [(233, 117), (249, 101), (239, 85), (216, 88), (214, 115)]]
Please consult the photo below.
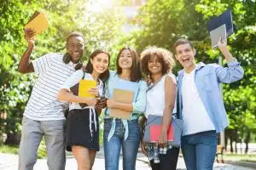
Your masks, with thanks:
[[(138, 170), (150, 170), (148, 167), (148, 158), (142, 155), (138, 155), (137, 158), (137, 169)], [(0, 153), (0, 170), (17, 170), (17, 165), (18, 165), (18, 156), (16, 155), (10, 155), (10, 154), (3, 154)], [(119, 161), (119, 169), (121, 170), (122, 167), (122, 161)], [(34, 170), (47, 170), (47, 164), (46, 160), (41, 159), (38, 160)], [(67, 158), (67, 165), (66, 165), (66, 170), (73, 170), (77, 169), (77, 164), (74, 158)], [(104, 159), (103, 157), (97, 156), (94, 167), (94, 170), (103, 170), (104, 169)], [(183, 162), (183, 158), (179, 157), (178, 162), (177, 162), (177, 169), (179, 170), (185, 170), (185, 165)], [(232, 166), (232, 165), (227, 165), (227, 164), (218, 164), (214, 163), (214, 170), (253, 170), (251, 168), (247, 167), (237, 167), (237, 166)]]

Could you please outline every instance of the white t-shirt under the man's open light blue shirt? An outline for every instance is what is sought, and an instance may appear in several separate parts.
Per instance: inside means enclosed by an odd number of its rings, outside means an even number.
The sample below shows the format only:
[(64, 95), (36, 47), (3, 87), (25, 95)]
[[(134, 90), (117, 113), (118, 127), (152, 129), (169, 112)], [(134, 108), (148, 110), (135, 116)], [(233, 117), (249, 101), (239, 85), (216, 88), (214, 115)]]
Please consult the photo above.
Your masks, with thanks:
[(182, 83), (183, 99), (183, 136), (215, 130), (195, 87), (195, 70), (184, 72)]

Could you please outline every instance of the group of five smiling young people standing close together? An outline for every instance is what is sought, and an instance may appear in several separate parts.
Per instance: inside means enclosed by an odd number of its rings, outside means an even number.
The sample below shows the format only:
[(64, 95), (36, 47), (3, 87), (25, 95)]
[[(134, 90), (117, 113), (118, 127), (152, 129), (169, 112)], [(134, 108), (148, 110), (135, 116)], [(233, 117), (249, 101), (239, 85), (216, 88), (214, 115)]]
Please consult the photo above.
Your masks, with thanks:
[[(33, 37), (34, 31), (26, 29), (28, 47), (19, 65), (21, 73), (38, 74), (22, 119), (19, 170), (33, 169), (43, 136), (49, 170), (65, 169), (65, 149), (73, 152), (79, 170), (92, 169), (100, 149), (98, 116), (102, 109), (105, 169), (119, 169), (121, 149), (123, 169), (135, 169), (140, 144), (153, 170), (176, 169), (179, 148), (167, 143), (167, 129), (176, 103), (177, 115), (183, 120), (181, 148), (187, 169), (212, 169), (217, 133), (229, 124), (218, 84), (243, 77), (243, 70), (226, 42), (218, 42), (228, 63), (228, 67), (222, 67), (195, 64), (193, 44), (178, 39), (174, 44), (175, 57), (183, 70), (176, 78), (172, 74), (174, 57), (165, 48), (146, 48), (140, 57), (135, 49), (122, 48), (116, 59), (117, 71), (109, 71), (110, 55), (103, 49), (90, 54), (87, 65), (81, 63), (85, 38), (79, 32), (67, 36), (67, 54), (45, 54), (31, 61)], [(79, 97), (73, 91), (81, 79), (97, 82), (97, 87), (89, 90), (95, 98)], [(131, 82), (136, 87), (133, 102), (114, 100), (117, 84), (128, 86)], [(63, 112), (67, 108), (66, 121)], [(130, 120), (111, 117), (108, 109), (129, 111)], [(138, 118), (143, 115), (163, 116), (158, 144), (141, 141)]]

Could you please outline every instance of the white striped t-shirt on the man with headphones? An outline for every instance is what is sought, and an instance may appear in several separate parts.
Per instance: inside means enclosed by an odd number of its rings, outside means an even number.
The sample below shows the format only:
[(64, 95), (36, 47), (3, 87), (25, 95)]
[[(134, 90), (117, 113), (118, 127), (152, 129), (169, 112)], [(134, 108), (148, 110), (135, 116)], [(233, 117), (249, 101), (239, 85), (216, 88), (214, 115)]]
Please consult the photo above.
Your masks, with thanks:
[(63, 54), (45, 54), (32, 61), (38, 80), (32, 88), (24, 116), (35, 121), (63, 120), (68, 103), (59, 101), (57, 93), (61, 85), (75, 71), (72, 62), (65, 64)]

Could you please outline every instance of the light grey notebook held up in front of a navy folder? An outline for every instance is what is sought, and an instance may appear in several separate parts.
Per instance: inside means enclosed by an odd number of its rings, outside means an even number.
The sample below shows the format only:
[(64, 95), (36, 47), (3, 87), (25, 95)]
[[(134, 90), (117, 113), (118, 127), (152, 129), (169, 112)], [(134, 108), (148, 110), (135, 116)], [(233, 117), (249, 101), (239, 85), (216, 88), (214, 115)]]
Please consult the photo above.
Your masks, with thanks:
[(227, 42), (226, 26), (222, 25), (215, 30), (210, 31), (210, 37), (212, 41), (212, 48), (216, 48), (218, 46), (218, 41), (220, 38), (222, 39), (222, 41)]

